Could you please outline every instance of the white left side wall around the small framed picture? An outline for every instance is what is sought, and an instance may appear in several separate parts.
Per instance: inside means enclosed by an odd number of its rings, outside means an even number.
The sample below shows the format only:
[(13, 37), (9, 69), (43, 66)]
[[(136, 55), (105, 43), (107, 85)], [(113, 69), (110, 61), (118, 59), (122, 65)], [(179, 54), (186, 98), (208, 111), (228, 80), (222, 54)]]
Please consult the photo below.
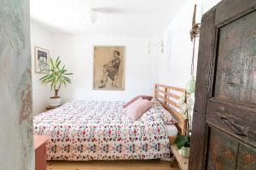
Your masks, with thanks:
[(49, 55), (52, 54), (52, 35), (49, 31), (44, 30), (36, 23), (31, 24), (31, 50), (32, 50), (32, 98), (33, 98), (33, 113), (38, 114), (45, 110), (50, 96), (49, 87), (41, 84), (39, 79), (45, 74), (35, 73), (34, 47), (45, 48), (49, 50)]

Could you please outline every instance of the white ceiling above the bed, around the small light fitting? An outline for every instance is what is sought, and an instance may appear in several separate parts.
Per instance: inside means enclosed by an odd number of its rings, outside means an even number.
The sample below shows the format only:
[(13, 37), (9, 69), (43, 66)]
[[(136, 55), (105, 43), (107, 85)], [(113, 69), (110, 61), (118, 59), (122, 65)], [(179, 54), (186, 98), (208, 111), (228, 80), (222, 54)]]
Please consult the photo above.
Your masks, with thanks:
[[(163, 31), (188, 0), (31, 0), (32, 22), (52, 33), (148, 37)], [(96, 23), (89, 20), (96, 8)]]

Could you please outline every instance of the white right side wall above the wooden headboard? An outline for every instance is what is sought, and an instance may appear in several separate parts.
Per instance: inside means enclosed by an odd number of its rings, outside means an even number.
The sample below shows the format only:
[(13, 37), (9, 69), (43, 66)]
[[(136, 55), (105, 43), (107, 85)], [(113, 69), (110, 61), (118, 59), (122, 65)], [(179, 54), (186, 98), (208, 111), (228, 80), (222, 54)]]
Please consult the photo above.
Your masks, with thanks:
[[(170, 26), (164, 32), (165, 57), (169, 59), (168, 65), (161, 61), (159, 67), (158, 82), (185, 88), (189, 81), (190, 65), (192, 60), (193, 42), (190, 41), (189, 30), (191, 29), (194, 4), (197, 4), (196, 22), (201, 22), (201, 15), (216, 5), (220, 0), (197, 0), (187, 1), (181, 8)], [(198, 53), (199, 38), (195, 44), (195, 73)], [(164, 64), (164, 65), (163, 65)]]

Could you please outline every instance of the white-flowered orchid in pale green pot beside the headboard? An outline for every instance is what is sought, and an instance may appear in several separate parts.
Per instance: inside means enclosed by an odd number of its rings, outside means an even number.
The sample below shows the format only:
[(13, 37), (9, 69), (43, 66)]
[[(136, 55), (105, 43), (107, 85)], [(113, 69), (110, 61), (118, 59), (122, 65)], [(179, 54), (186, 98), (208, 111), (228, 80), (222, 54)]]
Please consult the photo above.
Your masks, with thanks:
[(174, 140), (174, 144), (177, 145), (178, 152), (181, 156), (189, 157), (189, 150), (190, 150), (190, 139), (191, 139), (191, 116), (190, 111), (192, 110), (192, 100), (189, 98), (188, 93), (185, 91), (183, 96), (180, 98), (180, 111), (183, 113), (187, 121), (187, 129), (184, 135), (178, 135), (177, 138)]

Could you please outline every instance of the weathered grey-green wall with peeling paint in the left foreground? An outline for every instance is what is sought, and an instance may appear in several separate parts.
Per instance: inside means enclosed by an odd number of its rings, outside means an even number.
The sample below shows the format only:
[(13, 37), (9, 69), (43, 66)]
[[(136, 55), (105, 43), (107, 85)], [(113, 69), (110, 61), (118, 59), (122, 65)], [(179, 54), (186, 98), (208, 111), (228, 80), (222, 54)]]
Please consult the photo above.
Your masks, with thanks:
[(0, 0), (0, 169), (33, 170), (28, 0)]

